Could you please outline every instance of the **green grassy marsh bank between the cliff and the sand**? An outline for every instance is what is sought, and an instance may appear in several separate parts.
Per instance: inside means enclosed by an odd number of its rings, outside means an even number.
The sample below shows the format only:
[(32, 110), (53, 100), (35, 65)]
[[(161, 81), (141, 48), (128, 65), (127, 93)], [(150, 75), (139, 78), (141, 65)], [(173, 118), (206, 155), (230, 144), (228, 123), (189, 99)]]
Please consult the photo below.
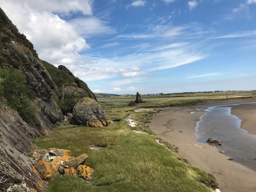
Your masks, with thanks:
[[(65, 176), (58, 176), (49, 183), (48, 192), (113, 192), (113, 191), (190, 191), (210, 192), (214, 183), (211, 175), (185, 164), (179, 156), (154, 141), (154, 135), (137, 134), (131, 130), (124, 118), (130, 114), (147, 129), (144, 123), (150, 121), (154, 112), (134, 112), (142, 107), (166, 107), (194, 104), (211, 96), (187, 97), (143, 97), (144, 104), (128, 107), (135, 98), (99, 99), (99, 103), (112, 119), (120, 119), (115, 126), (89, 128), (84, 126), (62, 125), (51, 135), (34, 141), (38, 148), (63, 148), (72, 151), (73, 156), (88, 154), (86, 165), (94, 169), (92, 182)], [(231, 97), (231, 96), (229, 96)], [(236, 97), (244, 97), (236, 95)], [(226, 96), (212, 96), (212, 99), (225, 99)], [(100, 150), (90, 150), (89, 145), (105, 145)]]

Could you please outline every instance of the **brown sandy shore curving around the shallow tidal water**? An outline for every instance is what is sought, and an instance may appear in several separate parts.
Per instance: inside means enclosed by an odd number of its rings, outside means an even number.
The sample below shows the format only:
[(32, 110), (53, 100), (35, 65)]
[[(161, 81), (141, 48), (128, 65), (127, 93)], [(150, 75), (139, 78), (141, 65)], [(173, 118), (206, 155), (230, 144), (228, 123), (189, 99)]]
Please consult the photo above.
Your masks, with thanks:
[[(213, 174), (221, 192), (255, 192), (256, 172), (228, 160), (227, 156), (217, 152), (213, 146), (194, 141), (196, 122), (204, 112), (196, 111), (190, 114), (197, 108), (244, 102), (256, 102), (256, 98), (208, 101), (196, 106), (164, 108), (162, 112), (153, 116), (149, 126), (156, 136), (177, 146), (178, 154), (182, 158), (187, 158), (192, 166)], [(252, 126), (256, 123), (256, 104), (233, 107), (232, 114), (242, 120), (242, 128), (256, 134), (255, 126)]]

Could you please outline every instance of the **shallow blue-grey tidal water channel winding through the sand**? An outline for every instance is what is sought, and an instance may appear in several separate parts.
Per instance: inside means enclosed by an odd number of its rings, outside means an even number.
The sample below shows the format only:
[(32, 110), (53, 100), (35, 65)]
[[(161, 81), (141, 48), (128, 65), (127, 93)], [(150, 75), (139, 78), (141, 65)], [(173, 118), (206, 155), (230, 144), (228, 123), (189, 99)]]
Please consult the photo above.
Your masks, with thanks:
[(246, 130), (240, 128), (242, 120), (230, 114), (233, 105), (239, 104), (197, 109), (206, 113), (197, 122), (196, 142), (207, 143), (208, 138), (218, 139), (223, 144), (217, 145), (216, 150), (224, 151), (224, 155), (233, 158), (234, 162), (256, 171), (256, 135), (248, 134)]

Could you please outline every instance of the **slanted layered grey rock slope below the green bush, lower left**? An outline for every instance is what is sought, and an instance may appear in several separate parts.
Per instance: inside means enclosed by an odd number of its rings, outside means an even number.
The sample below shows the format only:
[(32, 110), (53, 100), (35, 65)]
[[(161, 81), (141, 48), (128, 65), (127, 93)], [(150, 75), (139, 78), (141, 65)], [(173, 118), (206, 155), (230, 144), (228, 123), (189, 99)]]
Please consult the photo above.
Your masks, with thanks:
[(26, 156), (34, 149), (30, 141), (42, 135), (20, 118), (17, 112), (6, 104), (0, 104), (0, 178), (7, 179), (0, 184), (0, 191), (43, 192), (46, 183), (33, 170), (33, 161)]

